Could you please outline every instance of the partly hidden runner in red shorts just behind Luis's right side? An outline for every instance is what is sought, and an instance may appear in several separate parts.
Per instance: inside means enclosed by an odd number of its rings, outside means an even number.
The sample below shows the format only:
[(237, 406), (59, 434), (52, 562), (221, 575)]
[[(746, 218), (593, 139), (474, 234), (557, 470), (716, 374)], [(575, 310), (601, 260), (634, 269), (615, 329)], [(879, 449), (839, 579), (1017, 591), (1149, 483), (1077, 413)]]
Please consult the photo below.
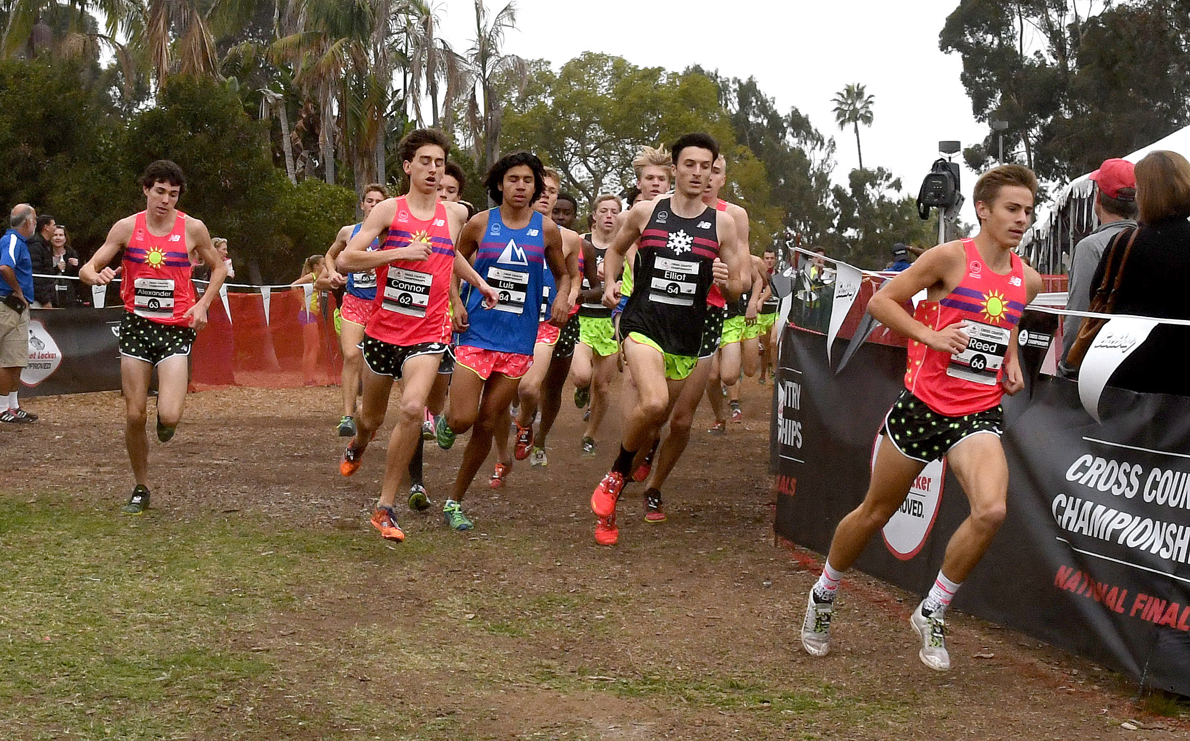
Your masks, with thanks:
[[(562, 176), (553, 168), (545, 168), (545, 189), (541, 191), (541, 197), (533, 202), (533, 211), (540, 213), (544, 216), (549, 216), (553, 213), (555, 205), (558, 201), (558, 187), (562, 183)], [(572, 232), (569, 228), (558, 227), (562, 232), (562, 251), (566, 259), (566, 271), (578, 275), (578, 256), (582, 255), (583, 240), (577, 232)], [(553, 306), (555, 291), (557, 287), (553, 283), (553, 274), (550, 271), (541, 272), (543, 278), (543, 291), (540, 301), (540, 312), (538, 316), (538, 328), (537, 328), (537, 343), (533, 345), (533, 365), (530, 366), (528, 372), (520, 381), (520, 385), (516, 389), (516, 397), (520, 400), (520, 408), (516, 413), (516, 448), (513, 456), (508, 456), (508, 434), (511, 425), (506, 420), (503, 425), (496, 425), (496, 470), (491, 475), (491, 479), (488, 482), (489, 485), (495, 489), (503, 485), (505, 477), (512, 470), (512, 459), (525, 460), (530, 457), (531, 450), (534, 448), (533, 440), (533, 420), (537, 417), (537, 410), (541, 400), (541, 383), (545, 381), (545, 376), (550, 370), (551, 362), (553, 359), (553, 350), (560, 337), (560, 332), (557, 326), (550, 322), (551, 310)], [(568, 303), (575, 306), (575, 300), (578, 295), (578, 281), (571, 282), (570, 296)], [(575, 312), (571, 312), (574, 314)], [(566, 326), (570, 325), (570, 318), (568, 316)], [(572, 346), (571, 346), (572, 347)], [(571, 353), (574, 350), (571, 350)], [(545, 452), (540, 451), (540, 457), (545, 457)], [(532, 464), (531, 464), (532, 465)], [(539, 464), (545, 465), (545, 464)]]

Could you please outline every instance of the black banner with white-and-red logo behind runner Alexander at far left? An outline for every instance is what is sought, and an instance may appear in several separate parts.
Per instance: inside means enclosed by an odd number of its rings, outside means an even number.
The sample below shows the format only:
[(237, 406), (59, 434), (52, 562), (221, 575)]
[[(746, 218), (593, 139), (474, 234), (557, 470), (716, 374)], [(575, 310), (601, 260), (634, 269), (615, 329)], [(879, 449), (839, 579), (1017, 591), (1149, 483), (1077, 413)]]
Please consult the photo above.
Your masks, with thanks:
[(32, 309), (23, 396), (120, 389), (119, 331), (124, 307)]

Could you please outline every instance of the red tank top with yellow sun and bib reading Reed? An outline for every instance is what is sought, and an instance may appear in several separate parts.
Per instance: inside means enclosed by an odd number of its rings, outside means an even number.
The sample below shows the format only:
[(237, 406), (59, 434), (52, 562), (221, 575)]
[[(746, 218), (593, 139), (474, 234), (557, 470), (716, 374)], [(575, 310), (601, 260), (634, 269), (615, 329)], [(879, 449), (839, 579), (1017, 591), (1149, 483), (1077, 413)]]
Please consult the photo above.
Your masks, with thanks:
[(997, 275), (979, 257), (973, 239), (964, 239), (963, 249), (963, 281), (941, 301), (920, 302), (914, 319), (931, 329), (966, 321), (967, 348), (952, 356), (910, 341), (904, 373), (904, 388), (946, 416), (975, 414), (1000, 403), (1004, 356), (1027, 299), (1020, 257), (1012, 256), (1008, 275)]

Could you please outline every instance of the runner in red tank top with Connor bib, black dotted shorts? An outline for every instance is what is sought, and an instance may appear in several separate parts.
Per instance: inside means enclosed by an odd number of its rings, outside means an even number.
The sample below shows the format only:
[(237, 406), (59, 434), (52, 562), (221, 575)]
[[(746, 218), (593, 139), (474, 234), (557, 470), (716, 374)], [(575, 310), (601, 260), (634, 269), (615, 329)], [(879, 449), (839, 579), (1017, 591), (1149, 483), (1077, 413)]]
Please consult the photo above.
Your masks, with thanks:
[[(496, 291), (455, 250), (466, 209), (437, 197), (449, 150), (450, 140), (440, 131), (416, 128), (406, 134), (397, 144), (397, 153), (409, 177), (408, 193), (375, 206), (338, 260), (339, 270), (376, 270), (378, 288), (361, 343), (368, 368), (363, 409), (358, 429), (339, 463), (343, 476), (359, 469), (368, 444), (384, 422), (393, 382), (405, 381), (380, 501), (371, 517), (372, 527), (386, 540), (405, 540), (393, 504), (421, 435), (426, 397), (449, 350), (451, 275), (476, 287), (490, 304), (496, 302)], [(381, 249), (370, 250), (380, 237)], [(425, 510), (430, 501), (411, 494), (409, 505)], [(449, 508), (446, 513), (449, 519)]]

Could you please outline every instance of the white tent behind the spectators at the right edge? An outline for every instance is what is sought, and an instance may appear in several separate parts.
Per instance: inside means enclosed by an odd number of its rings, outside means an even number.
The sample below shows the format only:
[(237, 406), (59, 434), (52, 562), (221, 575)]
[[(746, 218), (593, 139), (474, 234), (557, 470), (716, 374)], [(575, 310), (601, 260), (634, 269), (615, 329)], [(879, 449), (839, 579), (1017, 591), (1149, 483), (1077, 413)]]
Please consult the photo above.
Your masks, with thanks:
[[(1190, 157), (1190, 126), (1125, 155), (1123, 158), (1139, 162), (1154, 150), (1172, 150)], [(1078, 239), (1098, 226), (1091, 200), (1094, 195), (1095, 183), (1088, 172), (1059, 190), (1053, 202), (1038, 213), (1033, 227), (1021, 240), (1021, 250), (1039, 270), (1066, 272), (1066, 264)]]

